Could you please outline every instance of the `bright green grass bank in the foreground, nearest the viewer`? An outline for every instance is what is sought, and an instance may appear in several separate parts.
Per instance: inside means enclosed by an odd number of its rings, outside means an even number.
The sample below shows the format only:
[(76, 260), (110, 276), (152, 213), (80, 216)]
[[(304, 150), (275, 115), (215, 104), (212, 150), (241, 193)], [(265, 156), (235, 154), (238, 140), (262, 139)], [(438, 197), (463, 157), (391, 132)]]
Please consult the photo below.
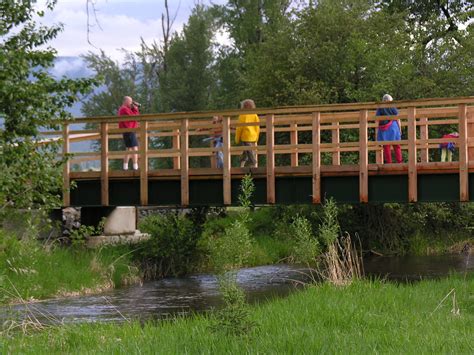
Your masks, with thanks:
[(474, 352), (474, 275), (414, 285), (324, 284), (254, 306), (250, 314), (257, 326), (242, 337), (211, 330), (212, 316), (196, 316), (10, 334), (0, 341), (0, 352), (467, 354)]

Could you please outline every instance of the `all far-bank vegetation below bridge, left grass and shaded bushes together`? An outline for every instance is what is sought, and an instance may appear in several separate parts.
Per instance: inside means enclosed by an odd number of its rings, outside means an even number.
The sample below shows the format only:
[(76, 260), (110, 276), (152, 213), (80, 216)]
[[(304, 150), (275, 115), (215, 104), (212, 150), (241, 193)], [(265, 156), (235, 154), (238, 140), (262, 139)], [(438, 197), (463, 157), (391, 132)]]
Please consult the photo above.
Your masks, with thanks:
[[(338, 233), (348, 232), (353, 239), (357, 235), (365, 253), (459, 253), (474, 245), (473, 208), (472, 204), (448, 203), (341, 205), (337, 206)], [(324, 211), (322, 206), (253, 208), (245, 226), (239, 222), (239, 209), (155, 214), (140, 224), (142, 231), (150, 233), (149, 241), (99, 250), (42, 244), (35, 232), (24, 238), (1, 231), (0, 303), (215, 272), (222, 263), (212, 255), (224, 255), (225, 249), (215, 250), (220, 247), (244, 253), (234, 255), (245, 260), (241, 266), (314, 263), (327, 250), (321, 234)], [(242, 238), (236, 235), (244, 235), (249, 247), (238, 246)]]

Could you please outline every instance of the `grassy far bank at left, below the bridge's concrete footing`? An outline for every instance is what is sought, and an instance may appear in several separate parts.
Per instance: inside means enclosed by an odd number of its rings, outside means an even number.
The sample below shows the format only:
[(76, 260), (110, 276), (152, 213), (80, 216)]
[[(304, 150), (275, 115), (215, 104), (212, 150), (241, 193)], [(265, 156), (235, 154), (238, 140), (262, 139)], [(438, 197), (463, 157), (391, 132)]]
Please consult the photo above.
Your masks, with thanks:
[[(0, 303), (114, 287), (136, 275), (127, 248), (45, 249), (0, 233)], [(120, 257), (124, 255), (123, 257)]]

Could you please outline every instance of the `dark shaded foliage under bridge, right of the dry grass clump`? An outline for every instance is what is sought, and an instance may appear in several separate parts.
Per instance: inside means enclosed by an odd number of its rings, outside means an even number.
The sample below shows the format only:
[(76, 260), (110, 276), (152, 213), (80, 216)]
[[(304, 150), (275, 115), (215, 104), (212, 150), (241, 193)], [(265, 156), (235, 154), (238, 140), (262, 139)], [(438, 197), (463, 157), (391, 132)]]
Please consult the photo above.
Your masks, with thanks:
[(364, 249), (382, 253), (439, 254), (473, 238), (473, 205), (464, 203), (348, 206), (341, 228), (357, 233)]

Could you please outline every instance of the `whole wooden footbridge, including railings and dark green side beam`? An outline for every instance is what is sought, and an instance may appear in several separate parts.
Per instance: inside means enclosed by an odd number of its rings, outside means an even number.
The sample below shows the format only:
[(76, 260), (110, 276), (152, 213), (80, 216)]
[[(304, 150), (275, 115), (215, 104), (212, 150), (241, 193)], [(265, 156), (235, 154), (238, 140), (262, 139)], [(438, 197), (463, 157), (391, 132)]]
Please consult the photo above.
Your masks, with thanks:
[[(62, 138), (63, 153), (78, 141), (93, 147), (74, 153), (64, 168), (66, 191), (71, 182), (76, 185), (64, 193), (65, 206), (231, 205), (247, 173), (254, 178), (257, 204), (320, 203), (328, 197), (350, 203), (472, 201), (473, 103), (474, 97), (459, 97), (247, 110), (260, 117), (257, 147), (233, 144), (241, 110), (146, 114), (136, 116), (137, 129), (119, 129), (123, 117), (79, 118), (45, 135)], [(401, 164), (383, 164), (382, 142), (374, 134), (379, 107), (399, 109)], [(223, 117), (222, 169), (215, 167), (216, 148), (203, 142), (216, 129), (214, 115)], [(73, 129), (77, 124), (82, 128)], [(137, 171), (117, 164), (126, 154), (124, 131), (137, 132)], [(459, 138), (440, 138), (440, 132), (452, 131)], [(438, 147), (447, 141), (458, 153), (455, 161), (440, 162)], [(237, 156), (247, 149), (256, 150), (258, 167), (238, 167)], [(83, 171), (85, 161), (96, 161), (97, 168)]]

